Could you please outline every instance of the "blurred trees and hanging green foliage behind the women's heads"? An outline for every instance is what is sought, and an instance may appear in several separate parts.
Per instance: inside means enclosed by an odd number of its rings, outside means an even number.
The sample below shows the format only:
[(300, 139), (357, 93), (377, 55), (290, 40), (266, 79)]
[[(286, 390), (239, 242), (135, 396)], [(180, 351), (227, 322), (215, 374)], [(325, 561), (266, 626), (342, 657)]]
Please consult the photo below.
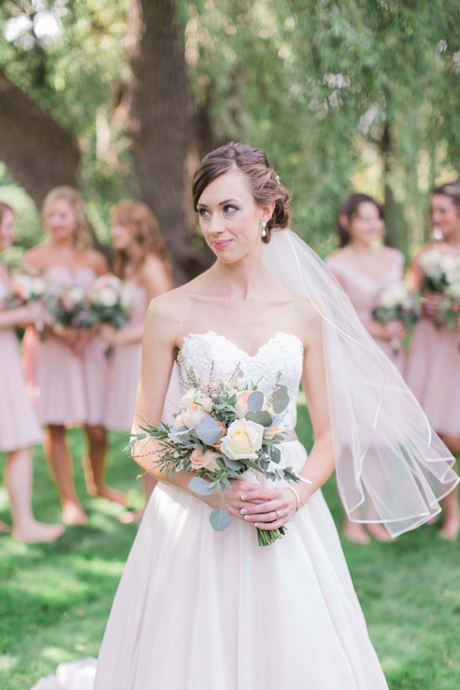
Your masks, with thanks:
[(427, 238), (428, 192), (460, 150), (454, 0), (3, 0), (0, 196), (18, 265), (48, 190), (77, 185), (98, 241), (123, 197), (159, 218), (176, 277), (210, 257), (190, 176), (210, 149), (268, 152), (318, 253), (350, 190), (384, 202), (389, 239)]

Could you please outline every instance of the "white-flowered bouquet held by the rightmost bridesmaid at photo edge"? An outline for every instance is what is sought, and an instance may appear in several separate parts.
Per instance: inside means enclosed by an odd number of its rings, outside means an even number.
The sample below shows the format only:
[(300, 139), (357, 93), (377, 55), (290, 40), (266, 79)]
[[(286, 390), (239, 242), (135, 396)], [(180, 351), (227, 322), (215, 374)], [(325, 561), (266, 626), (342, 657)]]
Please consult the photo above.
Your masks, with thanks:
[(435, 326), (446, 323), (454, 328), (460, 313), (460, 255), (430, 249), (420, 257), (420, 269), (424, 273), (423, 292), (442, 295)]

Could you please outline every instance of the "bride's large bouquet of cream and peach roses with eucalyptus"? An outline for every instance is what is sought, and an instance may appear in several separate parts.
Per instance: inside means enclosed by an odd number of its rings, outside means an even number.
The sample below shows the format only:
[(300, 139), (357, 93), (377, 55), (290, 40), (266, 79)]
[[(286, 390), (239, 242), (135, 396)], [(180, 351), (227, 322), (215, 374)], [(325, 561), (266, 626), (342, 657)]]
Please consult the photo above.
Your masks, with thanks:
[[(287, 388), (280, 384), (280, 378), (278, 374), (266, 397), (239, 370), (229, 381), (216, 383), (212, 369), (207, 382), (196, 379), (189, 369), (186, 378), (181, 380), (185, 393), (174, 424), (161, 422), (156, 427), (143, 420), (144, 433), (133, 434), (126, 450), (131, 452), (137, 441), (147, 437), (157, 439), (161, 454), (153, 466), (166, 475), (195, 472), (189, 486), (194, 493), (202, 495), (217, 488), (223, 497), (225, 488), (231, 488), (230, 479), (258, 483), (257, 473), (272, 481), (311, 483), (294, 473), (292, 467), (280, 466), (278, 445), (284, 435), (283, 413), (289, 404)], [(220, 507), (212, 511), (209, 521), (214, 529), (222, 531), (229, 527), (231, 517)], [(272, 544), (285, 531), (283, 527), (256, 529), (259, 546)]]

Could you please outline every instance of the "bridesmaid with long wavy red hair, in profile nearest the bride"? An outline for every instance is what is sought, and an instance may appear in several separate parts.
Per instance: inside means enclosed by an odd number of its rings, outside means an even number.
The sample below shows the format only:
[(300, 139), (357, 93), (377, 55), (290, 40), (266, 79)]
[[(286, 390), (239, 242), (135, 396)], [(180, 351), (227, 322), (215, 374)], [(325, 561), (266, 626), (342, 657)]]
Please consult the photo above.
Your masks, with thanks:
[[(149, 301), (173, 287), (166, 246), (156, 217), (142, 202), (121, 201), (111, 212), (114, 272), (124, 281), (123, 292), (130, 323), (120, 330), (103, 326), (101, 336), (113, 347), (109, 360), (108, 403), (105, 425), (130, 432), (141, 372), (142, 334)], [(145, 502), (156, 481), (143, 478)], [(127, 512), (123, 522), (142, 517), (143, 510)]]

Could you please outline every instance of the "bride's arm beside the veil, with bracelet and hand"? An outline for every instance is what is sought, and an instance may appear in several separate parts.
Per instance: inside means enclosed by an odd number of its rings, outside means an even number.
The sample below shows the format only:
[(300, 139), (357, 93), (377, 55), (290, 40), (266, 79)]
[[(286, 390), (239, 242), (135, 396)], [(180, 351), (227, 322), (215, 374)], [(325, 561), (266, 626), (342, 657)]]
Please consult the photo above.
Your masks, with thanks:
[[(311, 306), (307, 306), (305, 312), (306, 337), (304, 339), (302, 387), (309, 408), (315, 441), (309, 459), (299, 473), (311, 481), (311, 484), (292, 483), (292, 487), (299, 495), (299, 507), (305, 505), (310, 496), (328, 480), (334, 470), (326, 367), (323, 355), (323, 319)], [(258, 489), (253, 486), (246, 491), (245, 495), (246, 501), (251, 504), (246, 505), (244, 509), (247, 515), (246, 519), (255, 522), (261, 529), (282, 527), (293, 517), (297, 508), (297, 498), (289, 488), (281, 490), (275, 488)], [(264, 502), (254, 505), (255, 501)], [(280, 519), (276, 519), (276, 511), (280, 513)]]

